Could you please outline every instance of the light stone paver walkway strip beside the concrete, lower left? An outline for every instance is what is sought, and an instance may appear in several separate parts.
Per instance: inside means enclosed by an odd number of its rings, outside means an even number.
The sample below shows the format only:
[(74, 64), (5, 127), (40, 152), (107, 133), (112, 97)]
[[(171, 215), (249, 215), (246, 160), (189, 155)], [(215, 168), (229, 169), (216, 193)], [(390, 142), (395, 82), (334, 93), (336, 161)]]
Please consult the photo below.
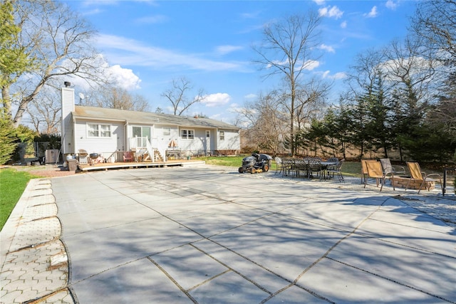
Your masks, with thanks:
[(50, 179), (31, 179), (1, 230), (1, 303), (74, 303)]

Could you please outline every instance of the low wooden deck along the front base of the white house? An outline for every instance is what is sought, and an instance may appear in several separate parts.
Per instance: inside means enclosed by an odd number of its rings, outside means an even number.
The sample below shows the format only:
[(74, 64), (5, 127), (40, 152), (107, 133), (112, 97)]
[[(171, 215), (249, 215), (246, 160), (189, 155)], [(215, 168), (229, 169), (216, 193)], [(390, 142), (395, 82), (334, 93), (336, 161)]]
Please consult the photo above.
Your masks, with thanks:
[(201, 160), (168, 160), (167, 162), (103, 162), (100, 164), (78, 164), (79, 172), (107, 171), (115, 169), (137, 169), (137, 168), (160, 168), (160, 167), (183, 167), (195, 164), (205, 164)]

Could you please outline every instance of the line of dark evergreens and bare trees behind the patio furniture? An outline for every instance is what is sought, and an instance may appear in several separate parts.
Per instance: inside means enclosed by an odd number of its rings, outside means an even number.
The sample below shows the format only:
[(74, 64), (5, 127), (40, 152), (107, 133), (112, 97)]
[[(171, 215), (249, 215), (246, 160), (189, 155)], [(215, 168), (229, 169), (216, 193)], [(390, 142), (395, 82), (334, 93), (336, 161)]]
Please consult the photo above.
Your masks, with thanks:
[[(351, 147), (360, 151), (358, 157), (371, 151), (388, 156), (388, 151), (398, 150), (401, 159), (448, 159), (456, 148), (455, 20), (453, 0), (418, 3), (407, 37), (353, 58), (346, 92), (336, 103), (328, 100), (331, 84), (306, 79), (301, 64), (316, 60), (310, 50), (318, 41), (318, 18), (309, 13), (267, 26), (266, 47), (257, 49), (257, 63), (268, 71), (267, 77), (282, 75), (283, 85), (263, 93), (248, 105), (247, 113), (240, 113), (239, 121), (247, 124), (251, 138), (249, 147), (291, 155), (299, 149), (319, 149), (342, 157)], [(309, 41), (302, 28), (315, 31), (313, 39)], [(294, 48), (289, 41), (297, 51), (290, 51)], [(307, 57), (297, 60), (298, 53)], [(299, 77), (294, 77), (294, 69)], [(266, 114), (261, 108), (276, 110)], [(275, 125), (281, 125), (279, 132), (274, 132)], [(264, 132), (274, 137), (269, 142), (281, 145), (267, 145)]]

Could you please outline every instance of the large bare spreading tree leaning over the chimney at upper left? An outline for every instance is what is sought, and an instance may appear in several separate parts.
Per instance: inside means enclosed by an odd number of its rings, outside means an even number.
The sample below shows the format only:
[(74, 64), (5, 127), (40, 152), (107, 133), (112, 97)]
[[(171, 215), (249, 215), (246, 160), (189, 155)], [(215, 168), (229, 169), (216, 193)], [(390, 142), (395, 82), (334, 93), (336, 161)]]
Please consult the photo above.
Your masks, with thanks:
[(28, 104), (50, 80), (76, 75), (101, 81), (103, 66), (90, 43), (94, 31), (68, 6), (47, 0), (18, 0), (14, 6), (16, 25), (21, 29), (17, 43), (36, 63), (36, 68), (19, 75), (14, 85), (1, 88), (3, 102), (17, 106), (13, 118), (17, 127)]

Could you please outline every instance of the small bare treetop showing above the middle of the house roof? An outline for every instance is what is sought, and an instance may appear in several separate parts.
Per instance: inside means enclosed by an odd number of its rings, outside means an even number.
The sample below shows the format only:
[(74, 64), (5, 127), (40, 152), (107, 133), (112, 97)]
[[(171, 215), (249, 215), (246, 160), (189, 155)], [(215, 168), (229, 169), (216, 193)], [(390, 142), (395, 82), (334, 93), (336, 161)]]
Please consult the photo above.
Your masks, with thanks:
[(204, 91), (198, 90), (194, 98), (189, 98), (188, 94), (193, 89), (192, 83), (185, 77), (172, 80), (172, 88), (165, 90), (162, 96), (167, 98), (172, 105), (174, 115), (182, 115), (195, 103), (201, 103), (205, 99)]

